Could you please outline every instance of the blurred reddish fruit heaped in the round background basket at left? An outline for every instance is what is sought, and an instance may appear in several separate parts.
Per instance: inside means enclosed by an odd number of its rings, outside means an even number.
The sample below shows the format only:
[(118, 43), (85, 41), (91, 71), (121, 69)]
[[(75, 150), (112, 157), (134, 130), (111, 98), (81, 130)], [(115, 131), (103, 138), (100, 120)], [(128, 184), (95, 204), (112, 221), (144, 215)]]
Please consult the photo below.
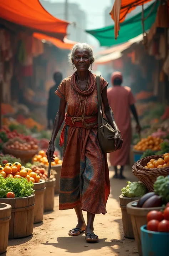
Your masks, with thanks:
[(38, 150), (38, 146), (37, 144), (34, 143), (34, 141), (31, 141), (30, 143), (24, 142), (24, 141), (20, 141), (20, 140), (16, 140), (14, 142), (11, 141), (11, 144), (9, 144), (7, 146), (7, 148), (12, 149), (12, 150)]

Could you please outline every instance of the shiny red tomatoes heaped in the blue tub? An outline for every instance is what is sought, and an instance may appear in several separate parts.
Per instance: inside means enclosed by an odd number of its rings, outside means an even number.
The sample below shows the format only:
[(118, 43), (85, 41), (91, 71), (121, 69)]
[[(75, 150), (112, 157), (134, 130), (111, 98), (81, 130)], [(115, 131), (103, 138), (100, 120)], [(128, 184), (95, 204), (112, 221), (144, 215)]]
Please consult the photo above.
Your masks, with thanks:
[(169, 232), (169, 203), (164, 212), (153, 210), (147, 214), (147, 230), (155, 232)]

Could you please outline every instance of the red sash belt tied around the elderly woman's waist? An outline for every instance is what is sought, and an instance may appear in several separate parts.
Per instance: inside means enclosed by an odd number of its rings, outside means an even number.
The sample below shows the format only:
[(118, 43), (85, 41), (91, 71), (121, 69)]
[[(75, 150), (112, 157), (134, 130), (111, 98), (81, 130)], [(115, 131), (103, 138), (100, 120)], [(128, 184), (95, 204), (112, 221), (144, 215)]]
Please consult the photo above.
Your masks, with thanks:
[(65, 124), (61, 132), (60, 143), (59, 143), (61, 147), (64, 143), (66, 125), (85, 128), (85, 129), (96, 128), (98, 127), (98, 116), (93, 115), (91, 117), (70, 117), (66, 113)]

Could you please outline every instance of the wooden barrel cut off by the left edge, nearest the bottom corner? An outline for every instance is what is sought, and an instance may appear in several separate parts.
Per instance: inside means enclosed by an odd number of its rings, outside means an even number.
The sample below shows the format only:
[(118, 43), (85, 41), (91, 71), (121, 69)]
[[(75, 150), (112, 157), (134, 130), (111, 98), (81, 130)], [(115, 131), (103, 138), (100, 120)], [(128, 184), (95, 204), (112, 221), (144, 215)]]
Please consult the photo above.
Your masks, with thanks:
[(9, 204), (0, 203), (0, 254), (7, 249), (11, 208)]

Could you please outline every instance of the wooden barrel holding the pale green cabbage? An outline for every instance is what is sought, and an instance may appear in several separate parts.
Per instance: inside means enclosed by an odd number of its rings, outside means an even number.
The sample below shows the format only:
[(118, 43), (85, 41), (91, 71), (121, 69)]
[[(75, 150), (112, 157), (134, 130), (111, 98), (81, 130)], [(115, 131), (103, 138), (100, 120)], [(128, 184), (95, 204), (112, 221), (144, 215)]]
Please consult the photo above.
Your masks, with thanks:
[(139, 198), (138, 197), (129, 198), (129, 197), (120, 195), (119, 199), (120, 199), (120, 207), (122, 211), (124, 236), (127, 238), (134, 238), (131, 218), (130, 218), (130, 215), (127, 213), (127, 204), (135, 200), (138, 200)]

